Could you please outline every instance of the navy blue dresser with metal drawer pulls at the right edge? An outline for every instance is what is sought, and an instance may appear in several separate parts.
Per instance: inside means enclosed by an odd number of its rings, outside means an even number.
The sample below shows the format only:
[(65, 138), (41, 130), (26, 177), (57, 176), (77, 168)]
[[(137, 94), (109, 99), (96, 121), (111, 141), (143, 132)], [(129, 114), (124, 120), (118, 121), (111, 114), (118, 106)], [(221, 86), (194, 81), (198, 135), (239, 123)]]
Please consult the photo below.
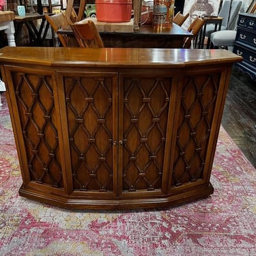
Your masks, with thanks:
[(256, 80), (256, 14), (239, 15), (233, 52), (244, 57), (237, 65)]

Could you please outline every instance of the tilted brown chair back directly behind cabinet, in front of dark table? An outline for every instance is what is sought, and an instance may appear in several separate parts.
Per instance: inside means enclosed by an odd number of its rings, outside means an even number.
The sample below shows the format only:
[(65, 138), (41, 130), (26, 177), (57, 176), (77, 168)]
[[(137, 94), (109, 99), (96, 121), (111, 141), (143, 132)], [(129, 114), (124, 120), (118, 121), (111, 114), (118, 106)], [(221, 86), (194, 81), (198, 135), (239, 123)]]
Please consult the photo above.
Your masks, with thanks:
[(98, 29), (92, 20), (85, 20), (83, 23), (70, 23), (80, 47), (102, 48), (104, 44)]

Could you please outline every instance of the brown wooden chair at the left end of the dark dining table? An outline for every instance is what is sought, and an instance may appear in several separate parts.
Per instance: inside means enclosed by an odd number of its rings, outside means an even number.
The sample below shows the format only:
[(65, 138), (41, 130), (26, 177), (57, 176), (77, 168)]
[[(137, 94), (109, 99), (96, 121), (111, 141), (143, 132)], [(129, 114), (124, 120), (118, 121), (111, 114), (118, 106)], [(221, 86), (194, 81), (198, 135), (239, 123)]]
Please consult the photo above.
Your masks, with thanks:
[(68, 36), (57, 33), (57, 30), (63, 26), (64, 20), (65, 20), (63, 14), (61, 14), (61, 13), (53, 14), (53, 15), (46, 14), (45, 18), (53, 29), (53, 41), (54, 41), (53, 45), (56, 46), (55, 45), (55, 33), (56, 33), (57, 37), (59, 38), (59, 42), (61, 42), (61, 45), (63, 47), (67, 47), (68, 46)]

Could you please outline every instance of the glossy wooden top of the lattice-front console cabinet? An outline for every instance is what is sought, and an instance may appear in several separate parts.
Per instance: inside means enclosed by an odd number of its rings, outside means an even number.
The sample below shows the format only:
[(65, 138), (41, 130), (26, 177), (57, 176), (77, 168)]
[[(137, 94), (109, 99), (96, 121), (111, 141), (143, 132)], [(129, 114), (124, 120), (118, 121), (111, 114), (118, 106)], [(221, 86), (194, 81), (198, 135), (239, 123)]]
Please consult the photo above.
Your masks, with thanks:
[(54, 48), (10, 47), (0, 50), (0, 63), (26, 63), (40, 66), (107, 66), (128, 68), (186, 68), (216, 63), (234, 63), (242, 57), (226, 50), (160, 48)]

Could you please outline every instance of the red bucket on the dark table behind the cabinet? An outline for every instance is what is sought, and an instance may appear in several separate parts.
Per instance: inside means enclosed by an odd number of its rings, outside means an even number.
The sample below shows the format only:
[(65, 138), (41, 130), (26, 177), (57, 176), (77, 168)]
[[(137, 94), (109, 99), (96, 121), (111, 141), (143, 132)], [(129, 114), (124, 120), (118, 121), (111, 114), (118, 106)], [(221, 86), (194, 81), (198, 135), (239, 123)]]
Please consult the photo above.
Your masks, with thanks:
[(96, 0), (98, 21), (126, 23), (132, 15), (132, 0)]

